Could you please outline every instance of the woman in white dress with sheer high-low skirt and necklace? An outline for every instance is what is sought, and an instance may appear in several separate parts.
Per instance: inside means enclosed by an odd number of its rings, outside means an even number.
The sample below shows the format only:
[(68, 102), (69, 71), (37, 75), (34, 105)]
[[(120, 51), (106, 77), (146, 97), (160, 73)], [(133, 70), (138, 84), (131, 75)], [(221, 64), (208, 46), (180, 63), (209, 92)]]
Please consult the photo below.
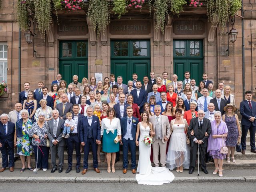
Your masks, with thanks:
[(176, 118), (171, 120), (171, 137), (166, 155), (166, 167), (176, 172), (183, 172), (190, 165), (190, 149), (186, 143), (188, 123), (182, 117), (182, 109), (175, 110)]

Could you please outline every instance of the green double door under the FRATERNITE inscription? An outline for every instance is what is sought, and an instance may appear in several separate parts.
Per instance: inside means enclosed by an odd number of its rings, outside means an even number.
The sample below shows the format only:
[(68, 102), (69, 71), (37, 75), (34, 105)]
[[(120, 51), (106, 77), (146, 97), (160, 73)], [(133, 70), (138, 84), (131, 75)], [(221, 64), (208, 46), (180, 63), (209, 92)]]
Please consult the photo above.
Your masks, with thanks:
[(132, 74), (138, 74), (138, 80), (150, 74), (149, 40), (112, 40), (111, 73), (122, 76), (123, 83), (132, 80)]

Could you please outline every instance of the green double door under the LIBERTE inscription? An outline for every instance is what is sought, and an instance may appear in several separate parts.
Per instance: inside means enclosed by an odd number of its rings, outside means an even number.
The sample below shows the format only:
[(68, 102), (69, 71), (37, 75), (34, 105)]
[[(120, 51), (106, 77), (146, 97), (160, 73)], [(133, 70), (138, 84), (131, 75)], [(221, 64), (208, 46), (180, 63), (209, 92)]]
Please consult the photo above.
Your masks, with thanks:
[(88, 77), (88, 46), (87, 41), (60, 42), (60, 74), (62, 79), (70, 84), (73, 75), (78, 76), (78, 82)]

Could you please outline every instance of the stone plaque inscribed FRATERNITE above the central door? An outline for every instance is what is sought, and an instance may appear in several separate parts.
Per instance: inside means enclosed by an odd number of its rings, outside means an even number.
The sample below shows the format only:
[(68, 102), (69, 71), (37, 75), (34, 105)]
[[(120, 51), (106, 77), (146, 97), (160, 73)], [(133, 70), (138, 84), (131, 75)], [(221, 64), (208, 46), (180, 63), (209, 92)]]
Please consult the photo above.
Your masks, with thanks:
[(149, 21), (112, 21), (110, 33), (112, 35), (148, 35), (151, 23)]

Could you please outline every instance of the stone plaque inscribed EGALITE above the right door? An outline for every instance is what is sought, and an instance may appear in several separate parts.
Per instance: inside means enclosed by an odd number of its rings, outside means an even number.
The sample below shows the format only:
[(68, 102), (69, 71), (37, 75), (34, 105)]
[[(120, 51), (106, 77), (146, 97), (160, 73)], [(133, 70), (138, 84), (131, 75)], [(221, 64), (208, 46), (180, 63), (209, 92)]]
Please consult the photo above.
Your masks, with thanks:
[(174, 33), (176, 35), (202, 35), (204, 34), (204, 22), (202, 21), (175, 21)]

